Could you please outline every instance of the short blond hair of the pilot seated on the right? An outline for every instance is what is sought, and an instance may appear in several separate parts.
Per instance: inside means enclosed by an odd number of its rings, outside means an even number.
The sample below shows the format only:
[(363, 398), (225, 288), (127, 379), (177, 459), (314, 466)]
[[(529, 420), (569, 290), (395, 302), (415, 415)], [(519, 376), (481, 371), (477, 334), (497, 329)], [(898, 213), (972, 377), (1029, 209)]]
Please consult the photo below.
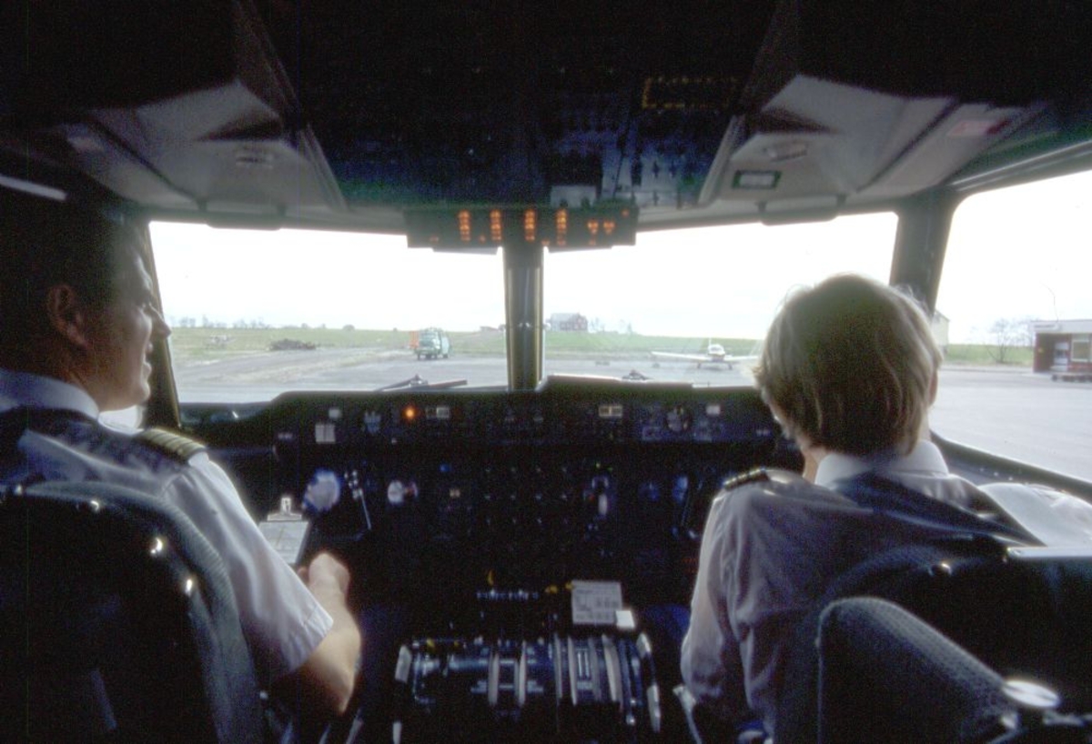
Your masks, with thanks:
[(755, 381), (818, 446), (851, 455), (913, 448), (941, 362), (907, 293), (838, 275), (791, 295), (767, 334)]

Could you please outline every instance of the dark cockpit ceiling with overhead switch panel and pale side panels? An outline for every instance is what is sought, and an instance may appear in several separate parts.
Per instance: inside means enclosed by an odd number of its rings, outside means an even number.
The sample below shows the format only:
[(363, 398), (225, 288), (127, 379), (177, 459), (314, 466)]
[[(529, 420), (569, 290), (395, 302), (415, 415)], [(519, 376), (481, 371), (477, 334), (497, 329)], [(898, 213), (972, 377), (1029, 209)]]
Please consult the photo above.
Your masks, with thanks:
[(0, 167), (225, 221), (833, 212), (1063, 142), (1092, 79), (1077, 0), (9, 5)]

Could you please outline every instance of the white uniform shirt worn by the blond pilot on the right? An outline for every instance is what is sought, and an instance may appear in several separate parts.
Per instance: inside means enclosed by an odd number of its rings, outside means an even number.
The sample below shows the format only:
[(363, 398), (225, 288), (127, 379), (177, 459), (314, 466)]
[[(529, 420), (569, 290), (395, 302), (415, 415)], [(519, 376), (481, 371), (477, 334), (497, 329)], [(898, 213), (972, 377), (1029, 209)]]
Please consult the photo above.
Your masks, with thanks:
[[(940, 451), (919, 442), (905, 457), (868, 461), (828, 455), (817, 485), (874, 471), (957, 505), (977, 494), (948, 471)], [(841, 573), (888, 548), (930, 537), (911, 525), (805, 481), (757, 482), (714, 499), (705, 521), (682, 680), (717, 716), (758, 716), (775, 732), (778, 685), (796, 624)]]

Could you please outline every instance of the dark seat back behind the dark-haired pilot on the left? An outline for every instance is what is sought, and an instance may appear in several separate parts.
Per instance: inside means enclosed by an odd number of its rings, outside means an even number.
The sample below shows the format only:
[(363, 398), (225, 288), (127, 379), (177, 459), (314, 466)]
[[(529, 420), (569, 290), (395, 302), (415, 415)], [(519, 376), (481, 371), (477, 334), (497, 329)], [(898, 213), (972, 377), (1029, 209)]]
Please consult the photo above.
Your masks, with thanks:
[(224, 565), (178, 509), (106, 483), (0, 489), (0, 740), (262, 737)]

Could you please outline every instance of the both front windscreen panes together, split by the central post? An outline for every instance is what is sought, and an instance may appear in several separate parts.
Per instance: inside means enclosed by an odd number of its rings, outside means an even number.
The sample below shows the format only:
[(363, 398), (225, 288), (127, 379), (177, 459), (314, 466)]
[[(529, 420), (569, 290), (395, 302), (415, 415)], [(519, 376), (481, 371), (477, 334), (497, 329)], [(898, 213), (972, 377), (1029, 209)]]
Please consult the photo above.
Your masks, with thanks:
[[(835, 272), (887, 281), (891, 214), (644, 232), (544, 257), (547, 374), (750, 385), (787, 291)], [(180, 401), (289, 391), (508, 384), (501, 252), (401, 237), (155, 223)]]

